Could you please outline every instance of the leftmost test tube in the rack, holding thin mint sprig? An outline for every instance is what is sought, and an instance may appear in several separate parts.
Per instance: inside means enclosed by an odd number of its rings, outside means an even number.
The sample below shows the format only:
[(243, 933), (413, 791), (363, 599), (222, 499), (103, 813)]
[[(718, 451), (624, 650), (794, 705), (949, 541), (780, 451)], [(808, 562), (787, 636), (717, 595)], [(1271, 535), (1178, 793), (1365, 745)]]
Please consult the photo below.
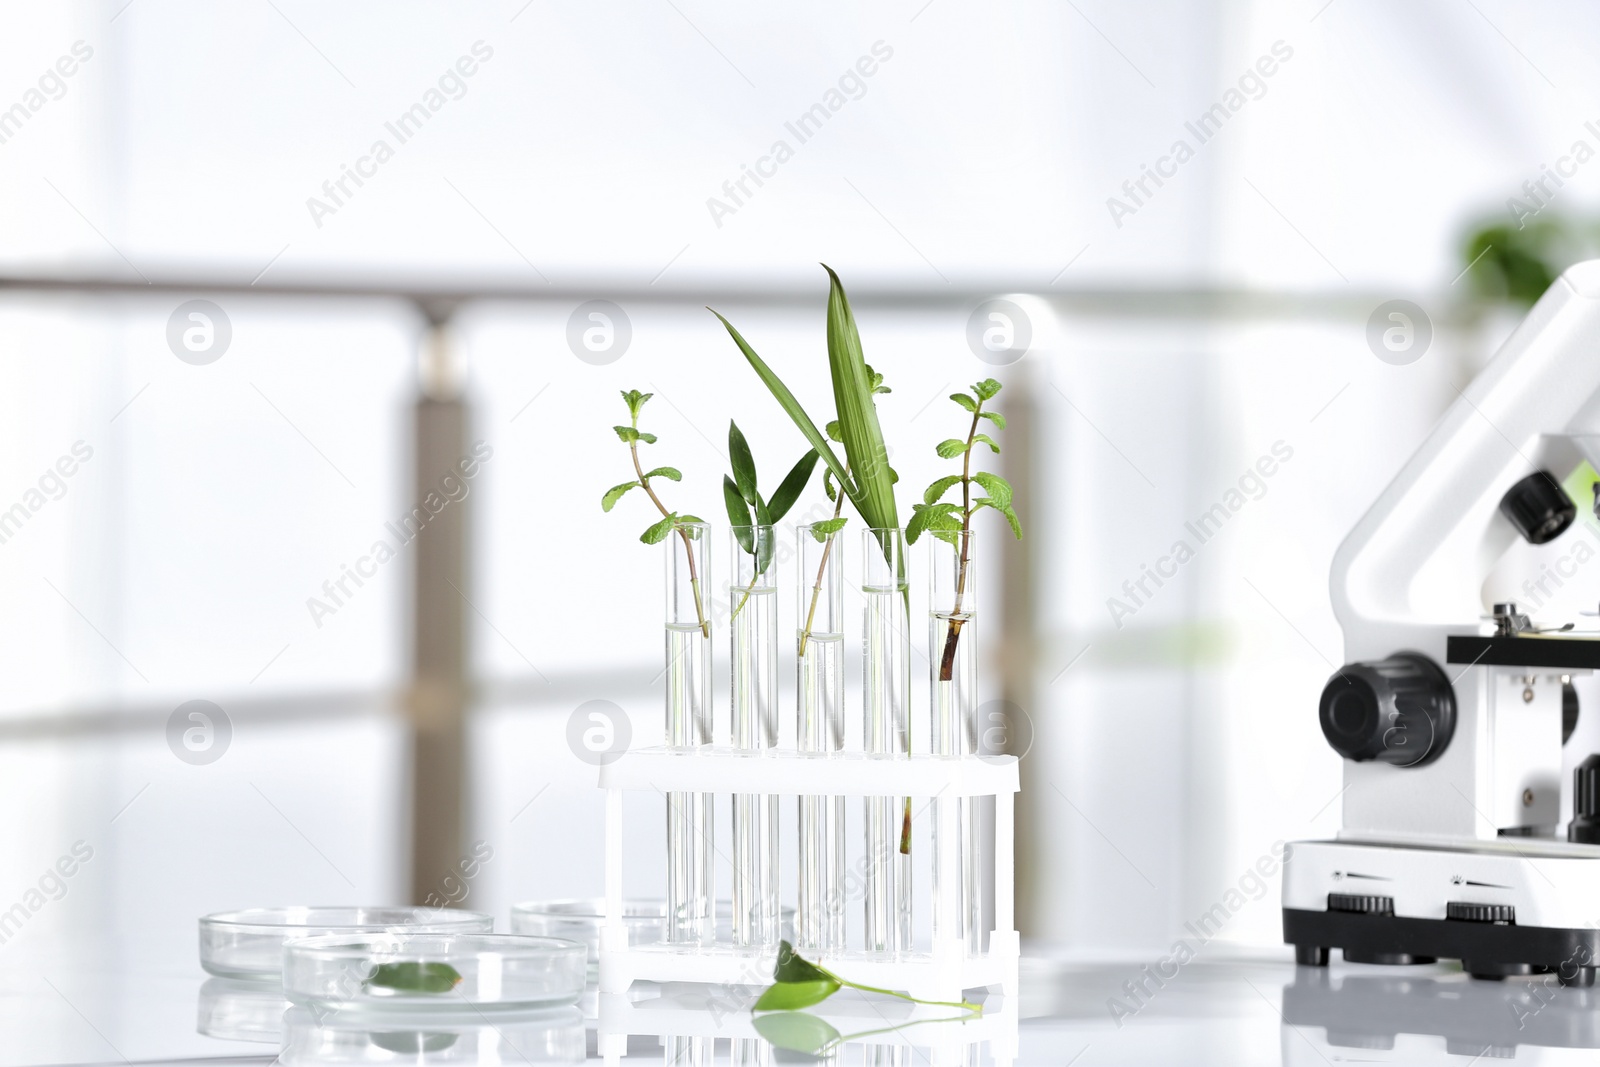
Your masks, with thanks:
[[(667, 552), (667, 747), (710, 744), (710, 526), (678, 523)], [(714, 936), (712, 793), (667, 793), (667, 929), (680, 944)]]

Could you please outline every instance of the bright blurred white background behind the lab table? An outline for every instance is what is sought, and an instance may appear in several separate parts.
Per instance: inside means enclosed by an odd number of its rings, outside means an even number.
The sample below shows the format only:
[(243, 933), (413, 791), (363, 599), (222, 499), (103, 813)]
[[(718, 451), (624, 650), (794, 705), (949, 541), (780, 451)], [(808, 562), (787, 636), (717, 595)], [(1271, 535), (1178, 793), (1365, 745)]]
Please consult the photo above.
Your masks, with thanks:
[[(1491, 0), (3, 3), (0, 275), (522, 293), (453, 320), (470, 437), (493, 448), (464, 597), (466, 840), (494, 854), (464, 905), (504, 921), (602, 888), (571, 710), (611, 699), (635, 742), (659, 731), (661, 560), (638, 501), (598, 509), (627, 477), (618, 390), (656, 394), (651, 458), (720, 525), (730, 416), (770, 483), (803, 443), (701, 306), (824, 411), (829, 262), (894, 389), (902, 509), (958, 429), (942, 397), (1006, 384), (1027, 541), (982, 531), (984, 688), (1037, 734), (1026, 936), (1139, 955), (1274, 841), (1336, 827), (1314, 713), (1342, 656), (1328, 561), (1504, 330), (1461, 310), (1462, 237), (1595, 142), (1597, 43), (1592, 5)], [(400, 144), (386, 123), (462, 56), (475, 72)], [(874, 74), (842, 86), (864, 56)], [(1264, 56), (1274, 74), (1197, 144), (1186, 123)], [(798, 142), (786, 123), (840, 88)], [(379, 139), (392, 158), (307, 206)], [(1178, 139), (1194, 157), (1134, 202), (1123, 182)], [(725, 182), (774, 141), (792, 158), (734, 203)], [(1579, 170), (1558, 203), (1597, 194), (1600, 166)], [(1032, 342), (995, 371), (966, 323), (1005, 294)], [(414, 504), (424, 318), (235, 291), (214, 296), (230, 347), (194, 366), (165, 333), (189, 296), (0, 290), (0, 510), (93, 450), (0, 544), (0, 905), (94, 848), (0, 957), (109, 928), (115, 952), (192, 968), (203, 912), (408, 893), (411, 557), (322, 625), (306, 601)], [(632, 325), (606, 366), (566, 344), (590, 298)], [(1405, 366), (1365, 339), (1392, 298), (1434, 317)], [(1259, 499), (1117, 625), (1107, 598), (1278, 443)], [(166, 747), (190, 699), (232, 720), (216, 763)], [(658, 824), (634, 827), (629, 888), (654, 893)], [(1275, 944), (1275, 894), (1224, 939)]]

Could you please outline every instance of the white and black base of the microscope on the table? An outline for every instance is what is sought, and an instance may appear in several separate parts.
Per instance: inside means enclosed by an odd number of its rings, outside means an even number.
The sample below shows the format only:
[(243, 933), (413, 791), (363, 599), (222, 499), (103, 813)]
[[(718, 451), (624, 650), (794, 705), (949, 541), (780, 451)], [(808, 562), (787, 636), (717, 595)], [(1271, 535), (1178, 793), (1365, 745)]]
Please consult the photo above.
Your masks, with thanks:
[(1283, 862), (1283, 941), (1309, 966), (1341, 949), (1350, 963), (1461, 960), (1474, 977), (1555, 973), (1589, 987), (1600, 966), (1597, 888), (1600, 849), (1565, 843), (1298, 841)]

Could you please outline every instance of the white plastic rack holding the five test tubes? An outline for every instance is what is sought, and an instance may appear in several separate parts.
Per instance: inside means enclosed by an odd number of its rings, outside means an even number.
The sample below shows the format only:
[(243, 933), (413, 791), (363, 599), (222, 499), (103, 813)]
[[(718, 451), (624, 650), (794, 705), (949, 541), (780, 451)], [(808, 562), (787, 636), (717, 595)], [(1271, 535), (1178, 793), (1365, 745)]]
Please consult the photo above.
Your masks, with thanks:
[[(998, 987), (1008, 998), (1018, 993), (1019, 941), (1014, 920), (1014, 801), (1018, 763), (1011, 755), (870, 757), (838, 753), (826, 758), (798, 752), (760, 753), (726, 747), (693, 752), (638, 749), (600, 768), (606, 790), (605, 897), (606, 921), (600, 931), (600, 992), (621, 993), (634, 982), (704, 982), (718, 985), (766, 985), (778, 961), (778, 947), (750, 949), (731, 944), (630, 945), (622, 925), (622, 797), (626, 792), (776, 793), (786, 797), (910, 797), (939, 800), (994, 797), (994, 931), (989, 950), (973, 953), (960, 936), (960, 885), (957, 805), (936, 805), (933, 837), (938, 841), (939, 885), (949, 886), (936, 902), (934, 928), (950, 931), (934, 939), (928, 952), (877, 953), (866, 950), (824, 952), (816, 963), (853, 982), (893, 989), (922, 1000), (960, 1000), (962, 990)], [(926, 848), (926, 835), (917, 845)], [(971, 857), (974, 862), (978, 857)]]

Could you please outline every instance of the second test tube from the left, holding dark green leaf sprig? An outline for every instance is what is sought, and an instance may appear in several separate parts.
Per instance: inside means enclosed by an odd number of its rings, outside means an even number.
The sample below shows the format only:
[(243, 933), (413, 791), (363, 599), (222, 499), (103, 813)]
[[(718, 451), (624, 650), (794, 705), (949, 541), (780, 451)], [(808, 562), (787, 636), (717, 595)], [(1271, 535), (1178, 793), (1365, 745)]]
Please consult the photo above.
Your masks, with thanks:
[[(774, 530), (736, 526), (728, 585), (733, 632), (733, 747), (768, 752), (778, 745), (778, 585)], [(776, 945), (778, 797), (733, 798), (733, 942)]]

